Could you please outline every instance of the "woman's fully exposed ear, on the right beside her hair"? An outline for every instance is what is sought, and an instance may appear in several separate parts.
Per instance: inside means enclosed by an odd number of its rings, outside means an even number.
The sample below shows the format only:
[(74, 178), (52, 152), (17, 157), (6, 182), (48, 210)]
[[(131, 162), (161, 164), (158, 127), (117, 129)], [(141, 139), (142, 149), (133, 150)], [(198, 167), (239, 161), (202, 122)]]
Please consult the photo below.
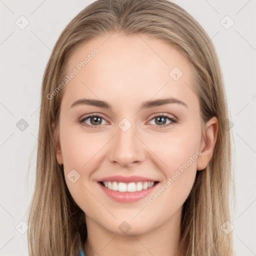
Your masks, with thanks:
[(197, 158), (196, 161), (196, 169), (202, 170), (206, 168), (208, 165), (213, 152), (214, 152), (214, 146), (217, 140), (217, 134), (218, 134), (218, 119), (213, 116), (211, 119), (209, 119), (206, 123), (205, 127), (205, 136), (202, 137), (200, 142), (199, 150), (201, 154)]

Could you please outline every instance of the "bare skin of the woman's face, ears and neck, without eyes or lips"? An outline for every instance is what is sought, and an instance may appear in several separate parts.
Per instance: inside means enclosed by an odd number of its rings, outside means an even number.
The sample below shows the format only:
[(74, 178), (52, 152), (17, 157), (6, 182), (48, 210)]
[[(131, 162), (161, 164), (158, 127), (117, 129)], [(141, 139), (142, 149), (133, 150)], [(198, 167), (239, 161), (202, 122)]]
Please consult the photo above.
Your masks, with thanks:
[[(75, 50), (67, 73), (94, 48), (99, 52), (63, 88), (60, 106), (56, 158), (64, 166), (72, 197), (85, 213), (88, 236), (84, 250), (87, 256), (183, 255), (178, 253), (182, 205), (196, 170), (205, 168), (212, 157), (218, 121), (212, 117), (202, 137), (192, 73), (179, 51), (144, 35), (110, 35)], [(169, 75), (175, 66), (183, 73), (176, 81)], [(85, 97), (107, 101), (112, 108), (70, 108)], [(168, 103), (140, 109), (145, 100), (166, 97), (177, 98), (186, 106)], [(101, 124), (94, 124), (96, 128), (78, 122), (90, 113), (103, 116)], [(171, 123), (166, 117), (159, 124), (154, 117), (161, 113), (178, 121)], [(123, 118), (131, 123), (125, 132), (118, 126)], [(93, 119), (84, 122), (93, 125)], [(52, 129), (55, 133), (54, 123)], [(159, 181), (152, 195), (196, 152), (200, 156), (154, 202), (148, 196), (132, 203), (114, 201), (96, 182), (111, 175), (149, 177)], [(72, 169), (80, 175), (74, 183), (67, 178)], [(127, 233), (118, 228), (123, 221), (130, 226)]]

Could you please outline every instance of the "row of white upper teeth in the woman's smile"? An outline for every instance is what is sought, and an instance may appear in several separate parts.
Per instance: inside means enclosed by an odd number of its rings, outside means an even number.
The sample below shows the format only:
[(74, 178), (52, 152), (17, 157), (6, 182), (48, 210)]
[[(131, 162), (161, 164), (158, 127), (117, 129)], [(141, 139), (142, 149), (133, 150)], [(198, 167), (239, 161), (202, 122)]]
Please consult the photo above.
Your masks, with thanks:
[(147, 189), (151, 186), (153, 186), (154, 182), (150, 181), (144, 181), (144, 182), (130, 182), (130, 183), (124, 183), (124, 182), (116, 182), (116, 181), (103, 181), (103, 185), (114, 191), (120, 191), (120, 192), (135, 192), (135, 191), (141, 191), (142, 189)]

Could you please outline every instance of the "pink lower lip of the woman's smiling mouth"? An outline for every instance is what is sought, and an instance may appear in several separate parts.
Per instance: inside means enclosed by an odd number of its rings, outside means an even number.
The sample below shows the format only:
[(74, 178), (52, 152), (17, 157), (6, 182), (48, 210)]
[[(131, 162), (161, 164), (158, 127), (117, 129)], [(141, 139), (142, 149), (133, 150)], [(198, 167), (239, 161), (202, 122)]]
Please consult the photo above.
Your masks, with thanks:
[(110, 198), (114, 199), (115, 201), (118, 202), (134, 202), (138, 201), (148, 194), (152, 192), (152, 190), (155, 188), (155, 186), (158, 184), (154, 184), (153, 186), (147, 188), (147, 189), (142, 189), (140, 191), (135, 191), (135, 192), (120, 192), (120, 191), (114, 191), (111, 189), (106, 188), (105, 186), (101, 185), (98, 183), (100, 187), (103, 189), (103, 191), (108, 195)]

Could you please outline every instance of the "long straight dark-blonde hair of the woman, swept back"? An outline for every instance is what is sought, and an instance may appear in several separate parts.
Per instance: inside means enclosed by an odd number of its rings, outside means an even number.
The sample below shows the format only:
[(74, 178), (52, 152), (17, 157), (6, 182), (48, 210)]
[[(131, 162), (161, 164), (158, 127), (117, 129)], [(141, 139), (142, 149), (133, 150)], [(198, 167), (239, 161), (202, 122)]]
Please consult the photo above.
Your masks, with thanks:
[[(56, 160), (51, 123), (59, 131), (62, 91), (49, 99), (64, 75), (74, 49), (104, 33), (145, 34), (176, 47), (194, 73), (202, 126), (212, 116), (219, 121), (214, 154), (197, 171), (183, 204), (181, 246), (186, 255), (233, 255), (232, 233), (221, 225), (230, 220), (230, 130), (222, 74), (214, 46), (198, 22), (167, 0), (97, 0), (79, 12), (61, 32), (47, 62), (42, 86), (35, 190), (29, 206), (30, 256), (79, 255), (86, 238), (84, 212), (72, 199), (63, 165)], [(58, 133), (57, 133), (58, 134)]]

